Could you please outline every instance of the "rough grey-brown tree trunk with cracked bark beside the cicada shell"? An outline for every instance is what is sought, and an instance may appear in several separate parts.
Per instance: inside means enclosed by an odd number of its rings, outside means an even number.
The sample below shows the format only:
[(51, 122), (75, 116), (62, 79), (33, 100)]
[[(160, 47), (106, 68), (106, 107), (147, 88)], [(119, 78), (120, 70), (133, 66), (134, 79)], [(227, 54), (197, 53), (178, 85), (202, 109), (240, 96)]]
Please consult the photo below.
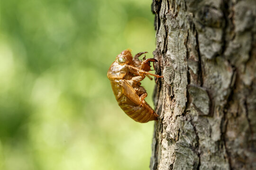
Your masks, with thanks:
[(151, 170), (256, 169), (256, 0), (153, 0)]

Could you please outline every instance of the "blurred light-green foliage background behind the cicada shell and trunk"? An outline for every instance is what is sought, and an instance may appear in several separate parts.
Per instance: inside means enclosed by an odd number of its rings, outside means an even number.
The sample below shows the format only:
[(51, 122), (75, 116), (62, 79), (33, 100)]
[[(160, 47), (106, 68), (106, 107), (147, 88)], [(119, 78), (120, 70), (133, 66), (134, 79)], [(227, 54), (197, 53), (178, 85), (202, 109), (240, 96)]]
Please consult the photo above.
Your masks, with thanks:
[(0, 0), (0, 170), (148, 170), (106, 76), (127, 48), (152, 57), (151, 0)]

